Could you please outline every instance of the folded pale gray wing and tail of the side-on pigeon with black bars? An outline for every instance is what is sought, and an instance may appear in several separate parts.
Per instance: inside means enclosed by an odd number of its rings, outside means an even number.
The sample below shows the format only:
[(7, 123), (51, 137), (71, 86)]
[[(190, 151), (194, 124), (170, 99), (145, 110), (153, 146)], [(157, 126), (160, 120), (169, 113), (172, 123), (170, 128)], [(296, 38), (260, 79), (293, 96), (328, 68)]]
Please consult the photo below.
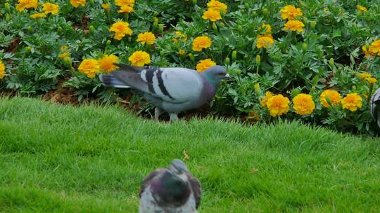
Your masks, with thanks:
[(127, 85), (172, 103), (184, 103), (199, 98), (203, 89), (203, 78), (193, 69), (117, 65), (122, 71), (101, 76), (105, 85), (120, 88)]

